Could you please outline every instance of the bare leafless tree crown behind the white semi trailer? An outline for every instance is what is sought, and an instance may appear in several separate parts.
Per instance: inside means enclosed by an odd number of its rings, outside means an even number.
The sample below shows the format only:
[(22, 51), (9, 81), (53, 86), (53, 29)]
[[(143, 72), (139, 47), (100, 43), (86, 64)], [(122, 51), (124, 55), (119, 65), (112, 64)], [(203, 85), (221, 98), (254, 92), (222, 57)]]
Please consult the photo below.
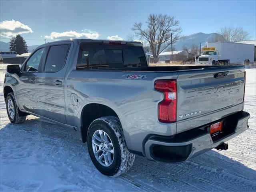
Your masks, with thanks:
[(245, 41), (250, 38), (250, 34), (242, 27), (222, 27), (217, 33), (220, 34), (224, 40), (230, 42)]

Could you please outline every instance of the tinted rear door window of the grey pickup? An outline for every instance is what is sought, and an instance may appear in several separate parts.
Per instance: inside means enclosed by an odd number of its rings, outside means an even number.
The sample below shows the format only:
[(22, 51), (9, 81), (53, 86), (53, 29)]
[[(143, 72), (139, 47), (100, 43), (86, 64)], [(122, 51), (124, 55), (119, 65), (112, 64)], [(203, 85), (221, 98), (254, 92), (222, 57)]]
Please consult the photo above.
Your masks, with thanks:
[(63, 68), (68, 54), (69, 45), (50, 46), (46, 64), (45, 72), (56, 72)]

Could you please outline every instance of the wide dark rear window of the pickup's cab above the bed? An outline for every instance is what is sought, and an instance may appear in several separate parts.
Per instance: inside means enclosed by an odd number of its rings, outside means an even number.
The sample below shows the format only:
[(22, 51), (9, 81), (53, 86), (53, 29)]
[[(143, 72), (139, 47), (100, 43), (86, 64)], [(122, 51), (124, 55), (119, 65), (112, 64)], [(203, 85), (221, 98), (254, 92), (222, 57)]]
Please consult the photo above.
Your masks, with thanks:
[(142, 47), (81, 44), (76, 70), (148, 66)]

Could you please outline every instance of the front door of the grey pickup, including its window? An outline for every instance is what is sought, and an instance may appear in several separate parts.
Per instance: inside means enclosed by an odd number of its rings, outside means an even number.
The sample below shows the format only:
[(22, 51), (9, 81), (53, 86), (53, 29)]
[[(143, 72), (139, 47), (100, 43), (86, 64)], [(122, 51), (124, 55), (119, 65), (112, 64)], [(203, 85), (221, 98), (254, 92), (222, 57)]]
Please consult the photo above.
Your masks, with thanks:
[(16, 86), (17, 101), (20, 109), (36, 113), (37, 109), (37, 88), (36, 77), (42, 64), (45, 48), (34, 52), (22, 66), (19, 84)]

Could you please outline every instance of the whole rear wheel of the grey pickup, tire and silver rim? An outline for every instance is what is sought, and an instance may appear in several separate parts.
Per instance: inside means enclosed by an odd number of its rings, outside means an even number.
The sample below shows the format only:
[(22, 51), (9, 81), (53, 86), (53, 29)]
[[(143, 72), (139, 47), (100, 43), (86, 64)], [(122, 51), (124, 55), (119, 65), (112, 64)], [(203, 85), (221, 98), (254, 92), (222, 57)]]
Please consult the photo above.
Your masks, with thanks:
[(90, 124), (87, 146), (94, 166), (106, 176), (118, 176), (133, 165), (135, 155), (128, 151), (121, 123), (114, 116)]

